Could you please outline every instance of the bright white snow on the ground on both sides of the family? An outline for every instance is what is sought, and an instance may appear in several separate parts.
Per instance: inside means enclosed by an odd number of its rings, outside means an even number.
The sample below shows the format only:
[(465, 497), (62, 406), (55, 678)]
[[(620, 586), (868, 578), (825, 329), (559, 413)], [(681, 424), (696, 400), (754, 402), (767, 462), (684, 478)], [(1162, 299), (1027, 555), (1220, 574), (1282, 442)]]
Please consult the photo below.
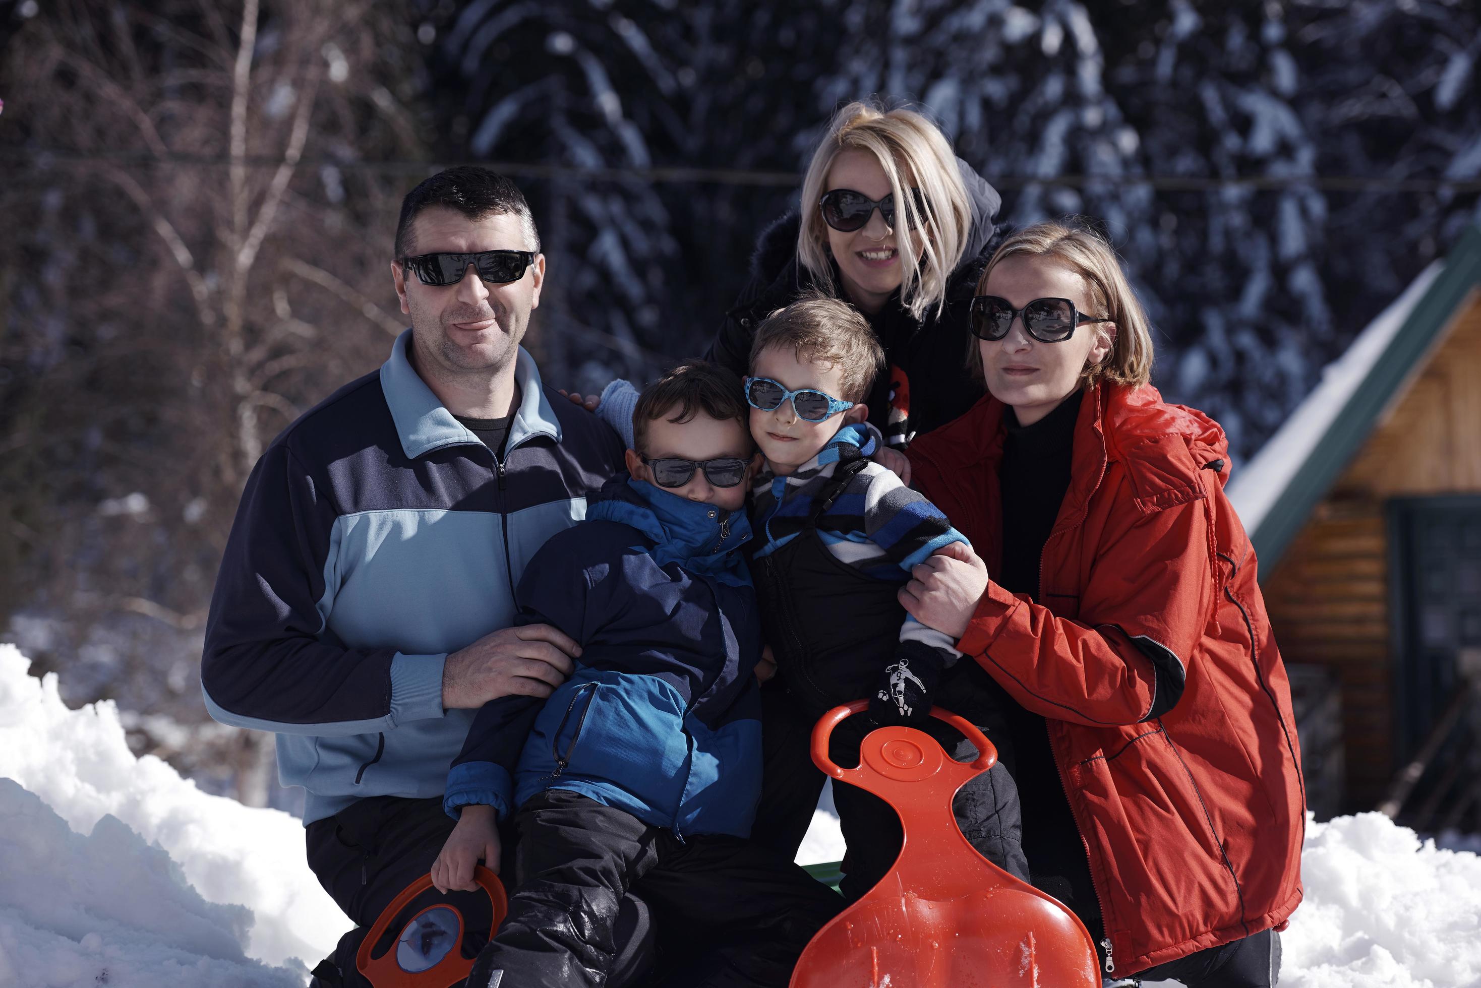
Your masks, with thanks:
[[(348, 920), (299, 821), (135, 758), (118, 712), (70, 711), (0, 644), (0, 988), (287, 988)], [(819, 812), (803, 859), (840, 856)], [(1376, 813), (1312, 824), (1284, 988), (1481, 988), (1481, 858)]]

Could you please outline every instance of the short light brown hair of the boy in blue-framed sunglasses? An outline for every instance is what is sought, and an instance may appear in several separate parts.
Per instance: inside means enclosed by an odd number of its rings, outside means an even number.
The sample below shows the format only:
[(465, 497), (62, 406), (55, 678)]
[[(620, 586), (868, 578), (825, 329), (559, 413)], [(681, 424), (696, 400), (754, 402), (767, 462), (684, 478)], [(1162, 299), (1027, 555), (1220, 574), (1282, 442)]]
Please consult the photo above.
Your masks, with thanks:
[(820, 292), (809, 292), (761, 320), (751, 341), (752, 369), (767, 347), (786, 347), (798, 360), (841, 367), (843, 394), (834, 397), (844, 401), (868, 398), (875, 375), (884, 369), (884, 348), (869, 320), (853, 305)]

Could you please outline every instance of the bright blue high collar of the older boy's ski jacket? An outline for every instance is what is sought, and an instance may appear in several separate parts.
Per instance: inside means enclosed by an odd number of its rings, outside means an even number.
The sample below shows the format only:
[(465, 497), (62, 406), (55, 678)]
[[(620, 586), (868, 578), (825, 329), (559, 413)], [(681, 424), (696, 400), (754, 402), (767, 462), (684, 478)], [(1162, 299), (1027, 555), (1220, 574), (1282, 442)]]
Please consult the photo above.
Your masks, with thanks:
[(641, 532), (653, 542), (650, 554), (659, 566), (678, 563), (723, 584), (751, 584), (745, 560), (736, 551), (751, 541), (745, 510), (727, 514), (712, 504), (680, 498), (644, 480), (622, 475), (603, 486), (586, 517), (621, 521)]

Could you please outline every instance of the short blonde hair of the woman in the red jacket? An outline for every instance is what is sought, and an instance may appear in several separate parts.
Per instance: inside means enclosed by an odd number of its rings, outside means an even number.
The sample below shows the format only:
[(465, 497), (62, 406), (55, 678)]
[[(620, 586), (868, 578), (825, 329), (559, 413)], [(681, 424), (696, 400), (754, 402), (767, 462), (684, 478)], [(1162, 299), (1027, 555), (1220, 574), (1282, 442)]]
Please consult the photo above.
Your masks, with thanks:
[[(1115, 323), (1117, 333), (1111, 353), (1100, 363), (1087, 364), (1081, 382), (1100, 381), (1137, 387), (1152, 379), (1152, 326), (1131, 283), (1126, 280), (1115, 249), (1094, 230), (1077, 219), (1034, 224), (1010, 234), (982, 271), (977, 295), (986, 292), (992, 268), (1009, 258), (1044, 258), (1086, 281), (1089, 316), (1105, 316)], [(1087, 324), (1094, 329), (1093, 324)], [(982, 351), (973, 342), (967, 363), (982, 376)]]

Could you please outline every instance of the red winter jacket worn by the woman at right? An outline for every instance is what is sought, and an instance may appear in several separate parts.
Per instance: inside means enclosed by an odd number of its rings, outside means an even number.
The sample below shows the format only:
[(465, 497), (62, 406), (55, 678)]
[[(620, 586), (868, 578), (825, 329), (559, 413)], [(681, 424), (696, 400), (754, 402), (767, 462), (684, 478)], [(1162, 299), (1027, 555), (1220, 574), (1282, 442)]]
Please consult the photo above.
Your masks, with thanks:
[[(983, 398), (909, 449), (915, 486), (988, 573), (1003, 410)], [(1123, 976), (1280, 927), (1302, 899), (1290, 684), (1228, 475), (1223, 430), (1201, 412), (1152, 387), (1091, 388), (1041, 603), (988, 584), (957, 643), (1049, 718)]]

